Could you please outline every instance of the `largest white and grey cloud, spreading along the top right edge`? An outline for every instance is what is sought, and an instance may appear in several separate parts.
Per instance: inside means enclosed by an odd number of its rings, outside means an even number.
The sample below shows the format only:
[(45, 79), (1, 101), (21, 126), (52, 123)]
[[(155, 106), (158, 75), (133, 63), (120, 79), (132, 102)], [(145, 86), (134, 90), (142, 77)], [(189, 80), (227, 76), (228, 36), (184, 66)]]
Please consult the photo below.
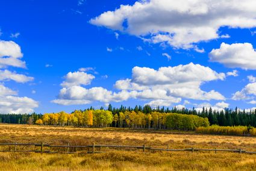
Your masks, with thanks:
[[(254, 0), (147, 0), (120, 5), (90, 20), (97, 26), (142, 37), (175, 48), (195, 48), (195, 43), (227, 38), (219, 28), (254, 28)], [(124, 24), (125, 23), (125, 24)]]

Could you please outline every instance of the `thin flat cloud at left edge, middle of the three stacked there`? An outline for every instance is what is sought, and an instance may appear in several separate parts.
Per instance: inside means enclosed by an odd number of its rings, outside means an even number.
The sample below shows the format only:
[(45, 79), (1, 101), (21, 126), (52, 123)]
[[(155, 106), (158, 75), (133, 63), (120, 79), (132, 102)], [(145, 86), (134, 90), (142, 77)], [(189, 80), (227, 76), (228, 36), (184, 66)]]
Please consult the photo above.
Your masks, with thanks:
[(11, 72), (10, 70), (0, 70), (0, 81), (13, 80), (16, 82), (24, 83), (28, 81), (33, 81), (34, 78), (31, 76), (26, 76), (23, 74), (18, 74), (16, 72)]

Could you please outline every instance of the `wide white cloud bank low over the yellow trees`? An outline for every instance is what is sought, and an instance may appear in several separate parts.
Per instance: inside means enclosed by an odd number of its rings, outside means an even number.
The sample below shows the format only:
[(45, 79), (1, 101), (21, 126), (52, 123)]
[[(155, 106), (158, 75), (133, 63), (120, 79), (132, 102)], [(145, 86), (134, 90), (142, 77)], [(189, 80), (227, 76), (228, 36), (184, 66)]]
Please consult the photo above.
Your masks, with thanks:
[[(75, 84), (74, 80), (63, 86), (57, 104), (89, 104), (94, 101), (109, 103), (122, 102), (128, 99), (150, 101), (156, 106), (170, 106), (181, 102), (182, 98), (207, 100), (225, 100), (219, 92), (201, 90), (204, 82), (223, 80), (225, 73), (217, 73), (209, 67), (199, 64), (187, 64), (175, 67), (160, 67), (158, 70), (148, 67), (134, 67), (131, 78), (116, 81), (114, 87), (119, 92), (112, 92), (103, 87), (86, 89)], [(65, 81), (64, 81), (65, 82)]]

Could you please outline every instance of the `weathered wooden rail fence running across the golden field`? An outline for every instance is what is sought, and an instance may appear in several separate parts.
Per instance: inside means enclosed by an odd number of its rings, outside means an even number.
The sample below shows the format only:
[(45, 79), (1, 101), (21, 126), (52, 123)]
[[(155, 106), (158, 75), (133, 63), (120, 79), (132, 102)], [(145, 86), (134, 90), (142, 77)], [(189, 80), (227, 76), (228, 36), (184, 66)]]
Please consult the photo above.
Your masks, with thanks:
[[(48, 154), (56, 154), (56, 153), (64, 153), (64, 154), (74, 154), (78, 151), (85, 151), (87, 149), (87, 153), (99, 153), (102, 151), (96, 151), (96, 149), (101, 148), (113, 148), (117, 149), (142, 149), (143, 152), (146, 151), (182, 151), (182, 152), (199, 152), (199, 151), (213, 151), (215, 154), (217, 152), (237, 152), (239, 154), (256, 154), (256, 152), (248, 152), (242, 149), (198, 149), (198, 148), (186, 148), (186, 149), (169, 149), (167, 146), (166, 149), (164, 148), (152, 148), (149, 146), (117, 146), (117, 145), (86, 145), (86, 146), (73, 146), (67, 144), (65, 145), (48, 145), (44, 143), (0, 143), (0, 146), (8, 146), (7, 150), (0, 150), (0, 152), (37, 152), (37, 153), (48, 153)], [(26, 147), (27, 149), (20, 150), (18, 146)], [(37, 148), (37, 149), (30, 149), (30, 148)], [(55, 149), (55, 151), (51, 151), (50, 149)], [(56, 149), (61, 149), (61, 151)]]

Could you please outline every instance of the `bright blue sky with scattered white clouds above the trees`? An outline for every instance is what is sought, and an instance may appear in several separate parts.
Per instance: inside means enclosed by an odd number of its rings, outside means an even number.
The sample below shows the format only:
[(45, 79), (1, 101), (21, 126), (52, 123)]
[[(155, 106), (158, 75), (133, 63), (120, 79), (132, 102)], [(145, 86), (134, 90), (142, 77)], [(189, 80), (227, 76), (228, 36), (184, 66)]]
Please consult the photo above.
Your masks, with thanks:
[(254, 0), (0, 2), (0, 113), (254, 109)]

